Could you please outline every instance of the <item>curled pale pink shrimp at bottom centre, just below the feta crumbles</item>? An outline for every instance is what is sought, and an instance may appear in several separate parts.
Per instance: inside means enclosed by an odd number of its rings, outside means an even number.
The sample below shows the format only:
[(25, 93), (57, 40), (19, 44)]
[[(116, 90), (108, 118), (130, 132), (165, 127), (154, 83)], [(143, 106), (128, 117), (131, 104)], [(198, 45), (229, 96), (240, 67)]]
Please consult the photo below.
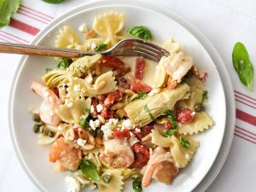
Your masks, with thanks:
[(106, 166), (122, 168), (131, 166), (134, 154), (131, 148), (120, 139), (110, 139), (104, 142), (105, 150), (100, 154), (100, 160)]

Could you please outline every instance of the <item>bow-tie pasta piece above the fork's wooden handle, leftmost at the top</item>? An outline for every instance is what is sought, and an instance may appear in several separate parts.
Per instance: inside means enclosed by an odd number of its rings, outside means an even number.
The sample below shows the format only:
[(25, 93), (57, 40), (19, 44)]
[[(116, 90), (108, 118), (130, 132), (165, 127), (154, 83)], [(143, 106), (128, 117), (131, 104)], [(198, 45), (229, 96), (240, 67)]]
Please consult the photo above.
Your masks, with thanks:
[(79, 36), (69, 26), (63, 26), (60, 29), (55, 41), (56, 48), (69, 48), (70, 45), (79, 44)]

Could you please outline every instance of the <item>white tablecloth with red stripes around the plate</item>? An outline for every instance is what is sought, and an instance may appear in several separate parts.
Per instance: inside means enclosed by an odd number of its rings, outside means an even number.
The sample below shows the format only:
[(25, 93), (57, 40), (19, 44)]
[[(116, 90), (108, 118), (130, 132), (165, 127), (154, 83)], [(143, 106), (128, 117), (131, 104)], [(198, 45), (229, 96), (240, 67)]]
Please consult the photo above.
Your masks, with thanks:
[[(146, 1), (146, 0), (145, 0)], [(153, 0), (152, 0), (153, 1)], [(44, 26), (84, 0), (58, 5), (23, 0), (10, 26), (0, 30), (0, 41), (29, 43)], [(256, 75), (254, 91), (239, 81), (231, 53), (237, 41), (247, 46), (256, 69), (256, 2), (253, 0), (158, 0), (157, 3), (191, 20), (218, 49), (229, 69), (236, 95), (236, 131), (222, 171), (207, 191), (255, 191), (256, 176)], [(20, 55), (0, 54), (0, 191), (38, 191), (23, 172), (11, 146), (7, 103)]]

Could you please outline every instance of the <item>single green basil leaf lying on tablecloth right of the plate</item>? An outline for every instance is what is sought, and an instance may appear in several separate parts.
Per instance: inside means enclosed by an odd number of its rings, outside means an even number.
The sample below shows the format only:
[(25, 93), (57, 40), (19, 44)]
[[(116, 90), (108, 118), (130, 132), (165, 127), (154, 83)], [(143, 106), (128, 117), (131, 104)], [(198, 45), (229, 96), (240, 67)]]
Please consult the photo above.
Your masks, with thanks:
[(237, 42), (232, 53), (233, 66), (242, 84), (253, 90), (253, 64), (244, 44)]

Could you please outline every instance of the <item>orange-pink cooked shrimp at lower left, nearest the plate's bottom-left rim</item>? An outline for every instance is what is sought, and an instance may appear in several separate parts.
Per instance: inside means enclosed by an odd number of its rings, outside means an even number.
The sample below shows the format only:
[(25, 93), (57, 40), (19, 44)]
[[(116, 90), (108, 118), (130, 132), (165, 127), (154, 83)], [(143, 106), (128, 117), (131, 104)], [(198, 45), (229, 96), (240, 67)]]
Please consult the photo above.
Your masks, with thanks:
[(81, 159), (82, 151), (64, 143), (64, 137), (59, 137), (49, 149), (49, 161), (58, 163), (57, 172), (76, 170)]

